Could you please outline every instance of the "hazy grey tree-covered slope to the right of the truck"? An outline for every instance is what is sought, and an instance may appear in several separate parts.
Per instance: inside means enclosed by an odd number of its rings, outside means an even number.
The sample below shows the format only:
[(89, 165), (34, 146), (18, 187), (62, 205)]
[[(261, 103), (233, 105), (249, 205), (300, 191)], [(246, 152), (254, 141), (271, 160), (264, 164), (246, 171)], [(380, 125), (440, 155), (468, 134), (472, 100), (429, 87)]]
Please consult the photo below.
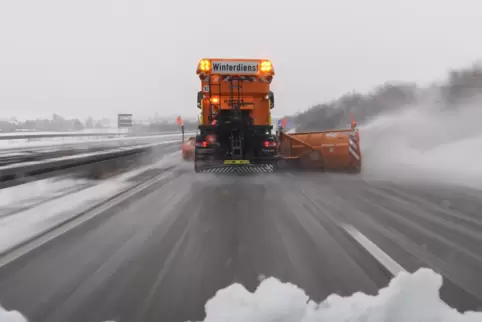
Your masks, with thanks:
[[(433, 96), (436, 99), (433, 99)], [(454, 109), (464, 104), (482, 102), (482, 66), (451, 71), (441, 85), (421, 88), (415, 83), (386, 83), (370, 93), (348, 93), (332, 102), (318, 104), (305, 112), (288, 117), (298, 131), (320, 131), (346, 127), (352, 114), (363, 124), (382, 113), (420, 104), (427, 98), (441, 109)]]

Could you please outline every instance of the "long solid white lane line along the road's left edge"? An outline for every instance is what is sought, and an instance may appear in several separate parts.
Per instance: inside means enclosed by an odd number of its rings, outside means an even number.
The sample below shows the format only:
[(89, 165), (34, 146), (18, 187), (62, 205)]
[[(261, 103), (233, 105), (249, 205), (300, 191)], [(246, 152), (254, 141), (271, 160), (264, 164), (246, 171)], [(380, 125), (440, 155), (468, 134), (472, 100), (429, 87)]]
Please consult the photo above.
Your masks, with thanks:
[(115, 205), (121, 203), (122, 201), (132, 197), (133, 195), (139, 193), (140, 191), (150, 187), (151, 185), (165, 179), (170, 174), (171, 171), (165, 171), (154, 178), (149, 179), (148, 181), (140, 184), (135, 188), (127, 188), (120, 195), (114, 197), (114, 199), (92, 209), (91, 211), (87, 211), (85, 214), (80, 214), (78, 217), (69, 219), (67, 222), (62, 223), (59, 227), (54, 228), (52, 231), (42, 234), (38, 238), (33, 239), (30, 242), (27, 242), (25, 245), (20, 246), (17, 249), (14, 249), (12, 252), (5, 254), (4, 256), (0, 257), (0, 267), (7, 265), (8, 263), (13, 262), (14, 260), (26, 255), (27, 253), (35, 250), (36, 248), (44, 245), (45, 243), (65, 234), (66, 232), (74, 229), (75, 227), (81, 225), (82, 223), (88, 221), (89, 219), (101, 214), (102, 212), (114, 207)]

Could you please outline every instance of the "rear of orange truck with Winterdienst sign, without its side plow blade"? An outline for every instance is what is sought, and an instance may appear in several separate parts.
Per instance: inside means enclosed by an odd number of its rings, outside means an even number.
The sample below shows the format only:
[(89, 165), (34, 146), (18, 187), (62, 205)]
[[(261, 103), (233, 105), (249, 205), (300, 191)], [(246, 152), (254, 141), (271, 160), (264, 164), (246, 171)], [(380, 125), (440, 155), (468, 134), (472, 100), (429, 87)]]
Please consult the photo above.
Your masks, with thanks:
[(277, 138), (272, 134), (270, 90), (274, 69), (263, 59), (202, 59), (197, 105), (196, 172), (272, 172)]

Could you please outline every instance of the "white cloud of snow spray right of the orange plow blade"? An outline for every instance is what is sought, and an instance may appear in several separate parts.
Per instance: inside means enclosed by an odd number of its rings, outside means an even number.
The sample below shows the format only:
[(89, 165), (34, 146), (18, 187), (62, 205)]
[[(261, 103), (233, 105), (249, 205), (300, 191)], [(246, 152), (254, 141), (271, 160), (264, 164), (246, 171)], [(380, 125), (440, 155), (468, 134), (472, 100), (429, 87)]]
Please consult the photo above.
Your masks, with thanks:
[(380, 116), (360, 128), (369, 173), (437, 178), (482, 186), (482, 109), (414, 106)]

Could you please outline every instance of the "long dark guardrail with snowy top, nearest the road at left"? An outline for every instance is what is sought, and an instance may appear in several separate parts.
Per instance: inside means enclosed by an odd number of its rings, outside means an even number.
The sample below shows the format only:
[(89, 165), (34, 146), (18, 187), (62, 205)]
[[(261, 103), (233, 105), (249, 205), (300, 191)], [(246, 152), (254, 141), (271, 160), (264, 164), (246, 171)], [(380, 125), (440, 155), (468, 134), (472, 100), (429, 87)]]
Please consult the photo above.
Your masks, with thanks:
[(161, 146), (174, 145), (176, 143), (180, 143), (180, 141), (170, 140), (135, 147), (0, 166), (0, 189), (58, 176), (67, 172), (75, 172), (86, 166), (96, 167), (122, 158), (132, 159), (152, 152), (153, 149)]

